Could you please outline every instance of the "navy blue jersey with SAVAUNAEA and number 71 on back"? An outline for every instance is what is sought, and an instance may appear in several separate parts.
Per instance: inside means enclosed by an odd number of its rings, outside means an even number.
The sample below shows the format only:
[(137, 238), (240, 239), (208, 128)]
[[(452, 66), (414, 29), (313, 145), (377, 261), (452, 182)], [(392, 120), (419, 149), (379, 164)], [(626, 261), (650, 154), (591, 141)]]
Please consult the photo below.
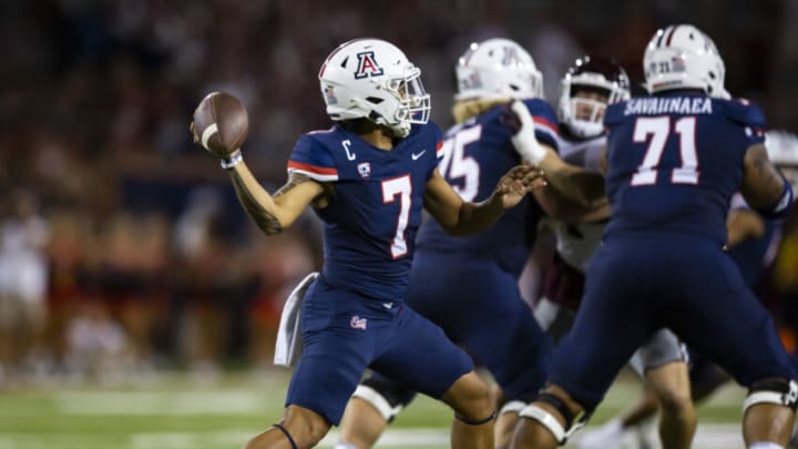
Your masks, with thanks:
[(703, 94), (643, 96), (607, 108), (605, 236), (694, 235), (722, 244), (746, 150), (765, 140), (763, 112)]

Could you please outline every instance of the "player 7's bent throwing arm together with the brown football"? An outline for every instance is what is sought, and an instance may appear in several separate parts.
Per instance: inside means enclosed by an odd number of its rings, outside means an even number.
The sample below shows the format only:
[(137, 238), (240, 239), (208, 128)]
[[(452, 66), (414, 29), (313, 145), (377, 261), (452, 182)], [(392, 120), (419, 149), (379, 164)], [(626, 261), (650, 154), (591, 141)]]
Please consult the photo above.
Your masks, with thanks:
[(248, 118), (244, 105), (231, 94), (214, 92), (203, 99), (190, 130), (195, 143), (219, 159), (244, 210), (268, 235), (290, 226), (324, 192), (320, 183), (291, 173), (288, 182), (274, 196), (269, 195), (244, 163), (241, 146), (247, 135)]

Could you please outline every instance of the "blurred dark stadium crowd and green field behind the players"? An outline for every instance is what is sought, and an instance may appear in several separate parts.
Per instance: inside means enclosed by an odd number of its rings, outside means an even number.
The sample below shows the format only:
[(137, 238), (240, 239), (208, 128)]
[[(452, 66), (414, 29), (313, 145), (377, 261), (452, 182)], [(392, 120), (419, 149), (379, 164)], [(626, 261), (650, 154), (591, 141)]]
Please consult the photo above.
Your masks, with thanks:
[[(48, 274), (45, 320), (0, 345), (19, 353), (0, 365), (0, 448), (236, 447), (279, 416), (274, 330), (286, 289), (319, 265), (318, 223), (307, 214), (272, 238), (255, 229), (225, 173), (190, 142), (188, 119), (207, 92), (244, 100), (244, 153), (274, 190), (295, 139), (327, 127), (316, 75), (350, 38), (405, 50), (446, 127), (452, 69), (471, 41), (520, 42), (556, 102), (560, 76), (585, 53), (616, 58), (638, 90), (652, 33), (689, 22), (717, 43), (729, 91), (759, 103), (771, 127), (798, 131), (798, 2), (564, 3), (2, 2), (0, 222), (33, 205), (49, 237), (34, 251)], [(788, 346), (798, 326), (796, 215), (761, 285)], [(550, 251), (544, 238), (530, 295)], [(2, 242), (0, 261), (17, 261)], [(627, 384), (613, 407), (636, 389)], [(706, 419), (738, 419), (738, 397), (726, 391)], [(446, 425), (437, 405), (418, 407), (403, 425)], [(203, 433), (212, 430), (221, 433)]]

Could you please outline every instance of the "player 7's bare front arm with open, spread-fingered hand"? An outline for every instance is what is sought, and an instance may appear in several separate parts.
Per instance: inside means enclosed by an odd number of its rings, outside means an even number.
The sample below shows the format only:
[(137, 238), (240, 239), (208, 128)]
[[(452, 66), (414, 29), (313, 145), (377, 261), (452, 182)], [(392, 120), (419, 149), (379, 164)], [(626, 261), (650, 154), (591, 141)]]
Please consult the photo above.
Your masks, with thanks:
[(469, 235), (487, 229), (504, 211), (514, 207), (528, 193), (545, 185), (540, 170), (519, 165), (499, 181), (493, 194), (480, 203), (462, 201), (436, 170), (427, 182), (424, 208), (452, 235)]

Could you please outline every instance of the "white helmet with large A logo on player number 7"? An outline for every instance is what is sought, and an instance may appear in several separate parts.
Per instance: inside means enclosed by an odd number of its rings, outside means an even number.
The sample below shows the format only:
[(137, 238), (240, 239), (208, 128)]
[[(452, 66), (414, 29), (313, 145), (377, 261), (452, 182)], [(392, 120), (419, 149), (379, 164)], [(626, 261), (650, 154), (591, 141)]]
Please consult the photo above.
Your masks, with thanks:
[(405, 137), (412, 123), (429, 121), (430, 95), (420, 75), (392, 43), (356, 39), (327, 57), (319, 82), (330, 119), (368, 119)]

